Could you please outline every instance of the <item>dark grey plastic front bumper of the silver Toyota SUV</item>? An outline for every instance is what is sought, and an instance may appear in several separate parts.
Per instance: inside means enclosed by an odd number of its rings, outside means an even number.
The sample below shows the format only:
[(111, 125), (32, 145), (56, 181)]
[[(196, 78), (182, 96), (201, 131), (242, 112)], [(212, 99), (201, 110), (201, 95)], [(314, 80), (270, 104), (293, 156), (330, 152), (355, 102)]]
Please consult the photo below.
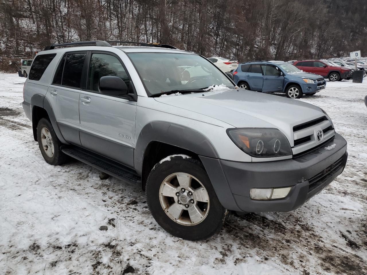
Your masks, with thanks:
[[(326, 150), (333, 145), (335, 148)], [(241, 212), (288, 212), (302, 206), (328, 186), (345, 167), (348, 158), (346, 141), (338, 133), (333, 140), (296, 158), (268, 162), (214, 162), (200, 157), (208, 172), (219, 201), (229, 210)], [(223, 175), (221, 175), (223, 173)], [(290, 187), (284, 199), (255, 201), (251, 188)], [(229, 188), (230, 195), (228, 194)]]

